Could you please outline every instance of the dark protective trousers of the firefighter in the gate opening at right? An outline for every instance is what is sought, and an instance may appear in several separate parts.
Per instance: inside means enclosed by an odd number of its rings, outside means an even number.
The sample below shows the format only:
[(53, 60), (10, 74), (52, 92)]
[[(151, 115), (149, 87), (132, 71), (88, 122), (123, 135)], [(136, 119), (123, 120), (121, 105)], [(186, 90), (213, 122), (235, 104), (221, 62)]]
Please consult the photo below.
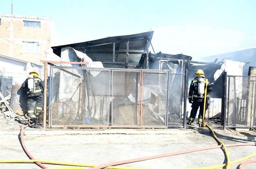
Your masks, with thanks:
[[(189, 117), (189, 123), (193, 123), (195, 120), (195, 116), (197, 113), (198, 108), (199, 109), (199, 115), (198, 115), (198, 123), (202, 124), (202, 118), (203, 118), (203, 102), (198, 102), (198, 101), (194, 101), (192, 103), (192, 110), (190, 112), (190, 117)], [(206, 110), (206, 107), (205, 107)]]

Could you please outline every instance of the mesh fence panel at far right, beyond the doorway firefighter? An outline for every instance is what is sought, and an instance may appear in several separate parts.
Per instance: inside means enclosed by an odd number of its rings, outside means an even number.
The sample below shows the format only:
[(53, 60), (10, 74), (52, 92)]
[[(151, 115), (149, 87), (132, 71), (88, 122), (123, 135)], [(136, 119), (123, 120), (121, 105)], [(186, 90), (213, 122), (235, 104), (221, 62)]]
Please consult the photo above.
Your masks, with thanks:
[(228, 76), (228, 127), (255, 127), (256, 77)]

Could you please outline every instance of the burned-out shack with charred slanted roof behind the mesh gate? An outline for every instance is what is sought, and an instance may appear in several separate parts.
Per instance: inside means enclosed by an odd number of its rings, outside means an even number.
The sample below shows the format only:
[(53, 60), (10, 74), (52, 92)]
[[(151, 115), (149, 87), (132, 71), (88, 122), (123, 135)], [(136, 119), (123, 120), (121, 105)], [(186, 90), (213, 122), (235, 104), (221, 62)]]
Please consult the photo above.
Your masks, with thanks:
[[(102, 125), (148, 126), (151, 124), (158, 127), (159, 125), (179, 127), (182, 126), (184, 116), (185, 83), (189, 85), (195, 71), (203, 69), (209, 81), (214, 82), (214, 92), (211, 93), (211, 97), (217, 98), (218, 107), (221, 107), (219, 103), (222, 98), (222, 79), (219, 77), (224, 69), (218, 69), (224, 62), (197, 62), (192, 61), (191, 56), (184, 54), (155, 53), (151, 44), (153, 33), (150, 31), (52, 47), (53, 52), (61, 57), (61, 61), (89, 61), (86, 67), (62, 64), (63, 68), (52, 69), (55, 73), (60, 72), (59, 79), (63, 81), (55, 81), (60, 84), (59, 99), (60, 96), (61, 99), (75, 96), (73, 99), (77, 98), (77, 101), (73, 103), (75, 105), (73, 107), (86, 105), (86, 108), (76, 111), (83, 113), (86, 110), (88, 112), (86, 117)], [(150, 46), (153, 51), (149, 51)], [(64, 69), (65, 72), (62, 72)], [(185, 81), (185, 69), (188, 70), (188, 81)], [(75, 74), (75, 77), (67, 72)], [(54, 77), (53, 75), (52, 79)], [(76, 79), (75, 85), (72, 79)], [(82, 86), (89, 88), (85, 90)], [(73, 91), (74, 87), (76, 91), (85, 92), (86, 96), (66, 92), (67, 89)], [(81, 98), (86, 101), (84, 103), (79, 101)], [(190, 106), (184, 112), (187, 114), (189, 110)], [(212, 108), (210, 111), (215, 110)], [(210, 111), (207, 117), (220, 113), (218, 109), (210, 116)], [(80, 114), (78, 119), (84, 116)], [(145, 117), (147, 122), (143, 123)]]

